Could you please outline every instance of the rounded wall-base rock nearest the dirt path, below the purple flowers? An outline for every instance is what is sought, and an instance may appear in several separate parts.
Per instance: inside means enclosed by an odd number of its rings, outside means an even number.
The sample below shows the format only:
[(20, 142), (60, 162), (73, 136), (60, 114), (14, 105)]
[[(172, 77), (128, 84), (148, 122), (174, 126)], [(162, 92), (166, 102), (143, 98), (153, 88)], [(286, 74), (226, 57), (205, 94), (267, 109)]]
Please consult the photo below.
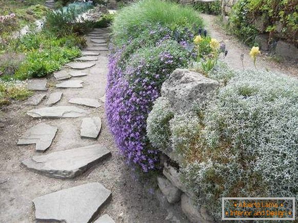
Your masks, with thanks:
[(172, 183), (163, 177), (157, 177), (157, 185), (166, 196), (169, 203), (178, 202), (181, 197), (181, 190), (172, 185)]

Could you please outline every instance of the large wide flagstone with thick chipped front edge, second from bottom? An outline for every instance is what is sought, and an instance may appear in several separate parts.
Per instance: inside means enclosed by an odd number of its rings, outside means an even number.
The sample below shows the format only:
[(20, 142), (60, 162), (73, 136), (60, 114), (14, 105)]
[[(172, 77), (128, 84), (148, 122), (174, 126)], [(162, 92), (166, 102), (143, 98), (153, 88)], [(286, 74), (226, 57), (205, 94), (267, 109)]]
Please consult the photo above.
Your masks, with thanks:
[[(111, 152), (100, 144), (33, 156), (22, 161), (27, 169), (54, 178), (74, 178), (100, 163)], [(85, 211), (85, 210), (84, 210)]]

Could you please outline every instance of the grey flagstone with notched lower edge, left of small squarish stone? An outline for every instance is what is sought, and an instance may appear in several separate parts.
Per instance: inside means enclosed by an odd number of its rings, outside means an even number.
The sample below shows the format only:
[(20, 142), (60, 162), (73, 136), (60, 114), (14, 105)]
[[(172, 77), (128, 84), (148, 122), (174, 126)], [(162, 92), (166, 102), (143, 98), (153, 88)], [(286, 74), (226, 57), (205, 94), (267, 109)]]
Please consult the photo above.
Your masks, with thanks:
[(35, 150), (44, 152), (51, 146), (56, 132), (56, 127), (40, 123), (26, 131), (24, 135), (18, 139), (17, 145), (36, 144)]

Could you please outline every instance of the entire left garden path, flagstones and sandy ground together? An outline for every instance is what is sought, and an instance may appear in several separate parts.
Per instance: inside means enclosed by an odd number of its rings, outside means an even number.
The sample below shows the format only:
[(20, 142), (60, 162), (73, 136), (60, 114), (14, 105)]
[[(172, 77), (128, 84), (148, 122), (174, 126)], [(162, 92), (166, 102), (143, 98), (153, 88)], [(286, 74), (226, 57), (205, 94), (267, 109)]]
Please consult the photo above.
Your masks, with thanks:
[(107, 36), (92, 31), (83, 57), (29, 80), (36, 94), (0, 117), (0, 221), (168, 222), (107, 126), (107, 44), (91, 42)]

